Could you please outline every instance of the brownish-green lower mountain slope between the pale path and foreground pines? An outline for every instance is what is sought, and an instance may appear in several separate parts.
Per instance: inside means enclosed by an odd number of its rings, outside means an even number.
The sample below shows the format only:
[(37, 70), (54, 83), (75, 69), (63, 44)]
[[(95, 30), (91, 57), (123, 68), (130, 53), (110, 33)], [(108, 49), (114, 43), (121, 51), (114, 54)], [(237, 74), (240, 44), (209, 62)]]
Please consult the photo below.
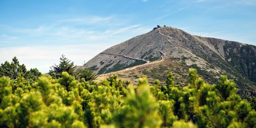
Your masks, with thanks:
[[(119, 78), (122, 78), (122, 80), (128, 80), (130, 81), (130, 84), (135, 86), (138, 83), (138, 78), (142, 77), (143, 75), (147, 77), (150, 85), (153, 85), (153, 82), (155, 80), (159, 80), (161, 84), (164, 84), (169, 72), (171, 71), (175, 76), (176, 84), (187, 86), (189, 82), (187, 75), (189, 68), (196, 68), (198, 71), (198, 75), (201, 78), (203, 78), (206, 81), (206, 83), (209, 84), (217, 84), (218, 77), (221, 75), (214, 72), (208, 72), (206, 70), (203, 70), (195, 64), (188, 66), (183, 62), (183, 60), (180, 59), (168, 59), (160, 63), (142, 65), (132, 70), (119, 71), (116, 74)], [(102, 74), (98, 76), (96, 81), (99, 82), (101, 79), (106, 79), (110, 75), (111, 74)], [(234, 78), (228, 75), (228, 79)], [(246, 80), (243, 81), (241, 79), (239, 79), (239, 81), (235, 80), (235, 82), (238, 84), (238, 94), (242, 98), (246, 98), (249, 95), (255, 95), (255, 83)]]

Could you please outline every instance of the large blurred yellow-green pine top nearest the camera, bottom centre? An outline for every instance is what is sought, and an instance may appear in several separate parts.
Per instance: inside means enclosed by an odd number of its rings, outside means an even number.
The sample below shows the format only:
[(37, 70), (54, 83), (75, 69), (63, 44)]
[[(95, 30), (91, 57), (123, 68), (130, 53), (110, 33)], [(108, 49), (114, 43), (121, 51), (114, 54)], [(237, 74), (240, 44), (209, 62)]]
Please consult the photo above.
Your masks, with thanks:
[(139, 79), (139, 87), (130, 88), (124, 106), (117, 110), (114, 121), (122, 128), (159, 128), (161, 119), (157, 110), (157, 102), (150, 94), (146, 78)]

